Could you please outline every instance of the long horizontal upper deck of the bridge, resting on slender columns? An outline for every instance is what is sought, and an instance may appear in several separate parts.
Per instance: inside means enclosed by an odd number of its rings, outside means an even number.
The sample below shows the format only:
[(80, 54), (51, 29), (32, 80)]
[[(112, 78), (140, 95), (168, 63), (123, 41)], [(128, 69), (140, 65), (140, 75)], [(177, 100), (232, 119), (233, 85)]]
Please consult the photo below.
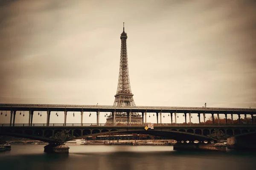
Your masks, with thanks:
[(162, 112), (162, 113), (236, 113), (256, 114), (251, 108), (203, 108), (203, 107), (163, 107), (163, 106), (112, 106), (112, 105), (44, 105), (44, 104), (0, 104), (0, 111), (102, 111), (102, 112)]

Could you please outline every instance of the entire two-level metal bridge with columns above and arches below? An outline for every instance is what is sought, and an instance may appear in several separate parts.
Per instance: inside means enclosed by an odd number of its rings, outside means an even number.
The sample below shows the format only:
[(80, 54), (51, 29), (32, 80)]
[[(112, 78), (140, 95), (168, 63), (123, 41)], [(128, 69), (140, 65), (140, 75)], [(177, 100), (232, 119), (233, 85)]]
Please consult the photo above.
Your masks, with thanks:
[[(23, 137), (28, 139), (35, 139), (50, 144), (63, 144), (72, 139), (87, 138), (88, 136), (102, 136), (116, 133), (137, 133), (148, 134), (153, 136), (162, 136), (167, 139), (174, 139), (177, 142), (181, 141), (195, 141), (199, 142), (226, 140), (230, 137), (236, 136), (256, 136), (256, 125), (253, 124), (253, 115), (256, 114), (256, 109), (247, 108), (195, 108), (195, 107), (152, 107), (152, 106), (132, 106), (132, 107), (118, 107), (118, 106), (100, 106), (100, 105), (23, 105), (23, 104), (0, 104), (0, 111), (10, 111), (11, 118), (9, 124), (0, 124), (0, 135)], [(29, 111), (29, 122), (27, 124), (15, 124), (15, 114), (17, 111)], [(47, 111), (47, 123), (34, 124), (33, 113), (35, 111)], [(64, 111), (64, 122), (61, 124), (49, 123), (50, 114), (52, 111)], [(66, 123), (67, 112), (81, 112), (81, 123)], [(88, 124), (82, 122), (83, 112), (95, 112), (97, 115), (96, 123)], [(100, 124), (99, 114), (102, 112), (111, 112), (113, 119), (115, 113), (126, 112), (127, 122), (125, 124)], [(131, 113), (141, 113), (144, 118), (143, 123), (132, 123)], [(156, 113), (157, 123), (154, 124), (154, 129), (145, 129), (147, 125), (146, 114)], [(171, 122), (169, 124), (162, 123), (162, 113), (169, 113), (171, 115)], [(182, 114), (185, 119), (184, 124), (176, 123), (176, 116)], [(198, 116), (198, 123), (187, 123), (186, 115), (189, 114), (189, 119), (192, 115)], [(200, 122), (200, 116), (203, 114), (204, 123)], [(212, 124), (205, 123), (205, 115), (214, 114), (218, 116), (218, 122)], [(219, 123), (219, 114), (224, 114), (226, 124)], [(231, 114), (232, 123), (227, 123), (227, 114)], [(233, 124), (233, 114), (239, 116), (239, 123)], [(160, 122), (158, 121), (160, 115)], [(240, 117), (250, 115), (252, 123), (248, 124), (247, 119), (245, 124), (241, 124)], [(173, 121), (174, 116), (174, 121)], [(189, 120), (189, 122), (191, 122)], [(250, 137), (249, 137), (250, 138)], [(254, 137), (253, 137), (254, 139)]]

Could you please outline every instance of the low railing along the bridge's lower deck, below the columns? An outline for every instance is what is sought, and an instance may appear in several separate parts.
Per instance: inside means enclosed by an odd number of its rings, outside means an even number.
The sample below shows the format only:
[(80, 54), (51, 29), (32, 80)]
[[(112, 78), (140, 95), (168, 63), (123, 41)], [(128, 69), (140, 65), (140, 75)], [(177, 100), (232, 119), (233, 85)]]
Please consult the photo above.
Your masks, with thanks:
[[(0, 124), (0, 127), (81, 127), (81, 126), (147, 126), (148, 123), (136, 123), (136, 124), (121, 124), (121, 123), (33, 123), (33, 124)], [(219, 126), (256, 126), (254, 124), (204, 124), (204, 123), (191, 123), (191, 124), (183, 124), (183, 123), (162, 123), (162, 124), (153, 124), (155, 127), (159, 126), (180, 126), (180, 127), (189, 127), (189, 126), (211, 126), (211, 127), (219, 127)]]

